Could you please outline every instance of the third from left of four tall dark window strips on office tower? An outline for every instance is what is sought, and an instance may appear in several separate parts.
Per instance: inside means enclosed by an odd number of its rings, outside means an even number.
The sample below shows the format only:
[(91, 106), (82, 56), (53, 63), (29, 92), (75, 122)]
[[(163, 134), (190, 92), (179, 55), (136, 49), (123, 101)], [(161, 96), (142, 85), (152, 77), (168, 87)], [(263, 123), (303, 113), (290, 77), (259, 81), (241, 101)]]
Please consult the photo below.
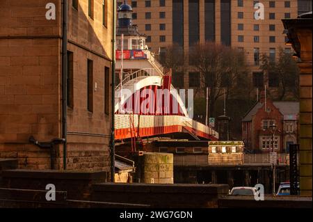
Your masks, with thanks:
[(215, 0), (204, 1), (204, 38), (215, 40)]

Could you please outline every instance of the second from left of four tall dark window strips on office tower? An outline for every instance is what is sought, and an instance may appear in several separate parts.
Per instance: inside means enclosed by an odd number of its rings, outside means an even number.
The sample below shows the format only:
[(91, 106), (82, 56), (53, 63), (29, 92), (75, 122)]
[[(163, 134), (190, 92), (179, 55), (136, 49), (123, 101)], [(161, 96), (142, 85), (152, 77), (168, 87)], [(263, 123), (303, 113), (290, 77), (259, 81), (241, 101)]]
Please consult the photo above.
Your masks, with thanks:
[(189, 0), (189, 46), (200, 40), (199, 29), (199, 1)]

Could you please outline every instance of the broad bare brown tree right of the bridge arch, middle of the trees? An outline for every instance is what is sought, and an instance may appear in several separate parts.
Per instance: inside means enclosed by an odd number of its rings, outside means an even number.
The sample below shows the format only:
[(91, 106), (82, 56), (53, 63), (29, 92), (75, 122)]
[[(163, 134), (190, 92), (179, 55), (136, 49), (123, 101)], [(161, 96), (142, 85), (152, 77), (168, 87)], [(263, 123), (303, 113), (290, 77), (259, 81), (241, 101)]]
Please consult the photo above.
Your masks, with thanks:
[(193, 47), (189, 63), (200, 72), (201, 90), (209, 88), (209, 116), (214, 115), (216, 101), (223, 97), (242, 97), (250, 92), (248, 64), (243, 51), (215, 42), (205, 42)]

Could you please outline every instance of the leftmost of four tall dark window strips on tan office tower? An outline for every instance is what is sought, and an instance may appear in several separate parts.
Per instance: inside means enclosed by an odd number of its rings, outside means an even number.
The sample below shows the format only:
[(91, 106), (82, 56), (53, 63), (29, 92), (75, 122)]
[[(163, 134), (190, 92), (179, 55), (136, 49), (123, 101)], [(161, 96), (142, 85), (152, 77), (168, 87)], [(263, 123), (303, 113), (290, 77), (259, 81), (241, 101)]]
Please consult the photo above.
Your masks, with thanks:
[(184, 1), (172, 1), (172, 41), (184, 45)]

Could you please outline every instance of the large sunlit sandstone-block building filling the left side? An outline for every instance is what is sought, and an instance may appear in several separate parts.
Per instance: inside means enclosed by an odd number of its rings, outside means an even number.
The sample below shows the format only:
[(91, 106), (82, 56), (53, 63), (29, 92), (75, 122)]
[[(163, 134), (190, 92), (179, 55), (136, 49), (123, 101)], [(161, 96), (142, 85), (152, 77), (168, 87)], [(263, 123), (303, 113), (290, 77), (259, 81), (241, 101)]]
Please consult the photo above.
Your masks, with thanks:
[(112, 2), (62, 2), (0, 1), (0, 158), (109, 172)]

